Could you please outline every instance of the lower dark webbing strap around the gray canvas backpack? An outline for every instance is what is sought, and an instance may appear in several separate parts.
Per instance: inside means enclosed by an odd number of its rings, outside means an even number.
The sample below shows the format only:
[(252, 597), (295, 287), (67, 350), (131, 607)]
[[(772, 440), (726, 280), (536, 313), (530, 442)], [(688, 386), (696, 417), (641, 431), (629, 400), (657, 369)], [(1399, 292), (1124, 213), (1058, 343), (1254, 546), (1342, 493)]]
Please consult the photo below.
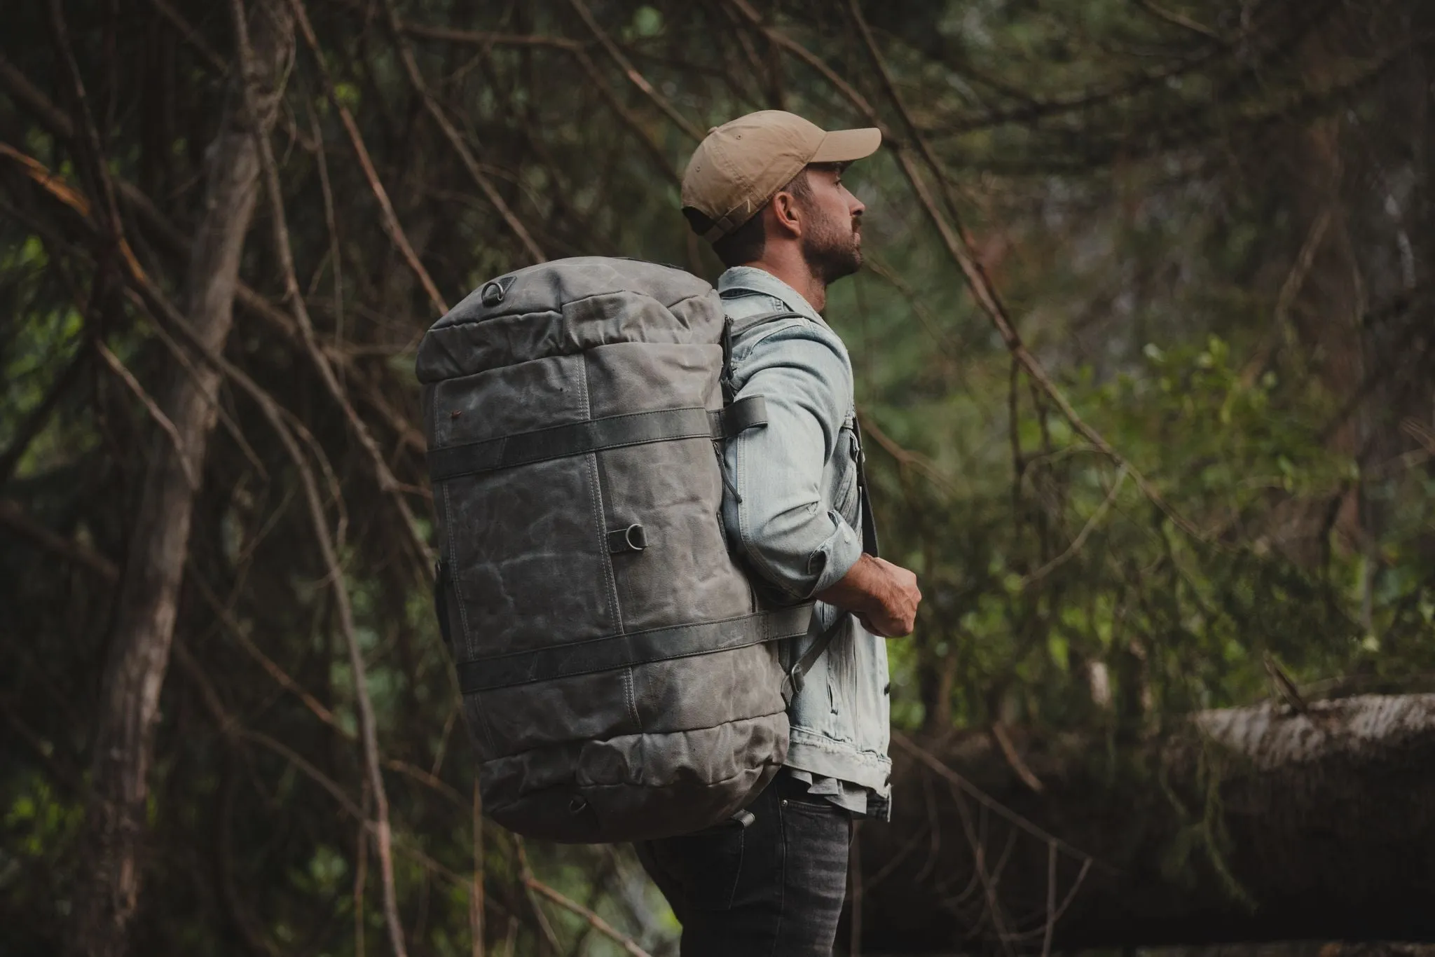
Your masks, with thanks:
[(811, 618), (812, 605), (802, 604), (722, 621), (610, 634), (574, 644), (498, 654), (476, 661), (462, 661), (458, 666), (458, 686), (465, 694), (471, 694), (495, 687), (608, 671), (631, 664), (730, 651), (806, 634)]

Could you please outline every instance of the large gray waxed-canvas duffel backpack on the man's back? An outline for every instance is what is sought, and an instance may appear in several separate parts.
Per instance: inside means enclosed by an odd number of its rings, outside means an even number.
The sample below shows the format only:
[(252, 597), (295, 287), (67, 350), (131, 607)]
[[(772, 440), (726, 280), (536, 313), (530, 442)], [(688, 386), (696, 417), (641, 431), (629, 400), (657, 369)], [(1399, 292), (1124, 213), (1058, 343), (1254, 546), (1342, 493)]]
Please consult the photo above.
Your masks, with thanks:
[[(423, 337), (435, 585), (485, 811), (570, 842), (686, 834), (782, 766), (811, 605), (763, 604), (722, 527), (718, 293), (611, 258), (486, 283)], [(829, 636), (824, 636), (829, 638)]]

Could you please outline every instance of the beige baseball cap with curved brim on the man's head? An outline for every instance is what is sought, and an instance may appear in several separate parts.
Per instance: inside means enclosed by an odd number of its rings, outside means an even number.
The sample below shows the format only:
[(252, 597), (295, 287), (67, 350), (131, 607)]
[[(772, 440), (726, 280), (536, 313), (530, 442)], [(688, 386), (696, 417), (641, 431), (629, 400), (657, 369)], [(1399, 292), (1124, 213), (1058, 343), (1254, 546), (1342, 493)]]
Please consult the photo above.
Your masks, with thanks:
[(881, 143), (880, 129), (827, 132), (781, 109), (748, 113), (697, 143), (683, 174), (683, 207), (712, 220), (702, 237), (713, 242), (751, 220), (802, 166), (871, 156)]

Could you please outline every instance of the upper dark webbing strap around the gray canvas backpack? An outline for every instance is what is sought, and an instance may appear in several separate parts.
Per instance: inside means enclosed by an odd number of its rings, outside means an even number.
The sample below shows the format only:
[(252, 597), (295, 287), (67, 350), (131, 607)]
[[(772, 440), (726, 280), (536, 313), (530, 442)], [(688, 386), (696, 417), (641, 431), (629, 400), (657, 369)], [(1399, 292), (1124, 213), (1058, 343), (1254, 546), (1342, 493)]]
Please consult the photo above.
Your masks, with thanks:
[(505, 435), (485, 442), (432, 449), (429, 452), (429, 478), (442, 482), (461, 475), (649, 442), (726, 439), (745, 429), (766, 423), (768, 400), (762, 396), (749, 396), (722, 412), (709, 412), (700, 407), (631, 412)]

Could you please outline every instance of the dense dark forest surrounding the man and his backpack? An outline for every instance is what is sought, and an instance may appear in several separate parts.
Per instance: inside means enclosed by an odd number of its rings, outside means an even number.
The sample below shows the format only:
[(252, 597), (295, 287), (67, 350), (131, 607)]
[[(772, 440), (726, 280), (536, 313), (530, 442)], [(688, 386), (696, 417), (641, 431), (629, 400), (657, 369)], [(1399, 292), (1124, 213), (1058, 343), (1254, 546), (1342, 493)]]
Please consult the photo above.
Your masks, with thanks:
[(1422, 0), (11, 0), (0, 953), (676, 953), (627, 848), (481, 825), (412, 369), (542, 258), (716, 278), (680, 171), (762, 108), (884, 131), (828, 317), (926, 601), (841, 947), (1435, 938), (1432, 40)]

